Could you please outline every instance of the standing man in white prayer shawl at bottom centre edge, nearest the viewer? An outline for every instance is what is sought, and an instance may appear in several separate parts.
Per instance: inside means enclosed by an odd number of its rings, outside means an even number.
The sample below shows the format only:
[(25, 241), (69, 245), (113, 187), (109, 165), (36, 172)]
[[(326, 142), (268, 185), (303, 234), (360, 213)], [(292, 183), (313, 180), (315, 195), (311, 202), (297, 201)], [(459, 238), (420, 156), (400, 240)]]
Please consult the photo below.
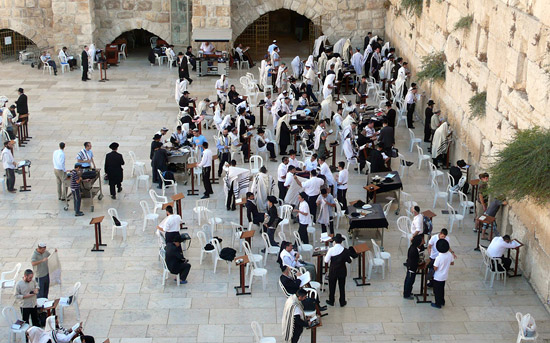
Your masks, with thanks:
[(306, 298), (306, 291), (299, 289), (296, 294), (291, 295), (285, 302), (283, 309), (283, 339), (285, 342), (298, 343), (300, 336), (307, 327), (307, 319), (304, 314), (302, 301)]

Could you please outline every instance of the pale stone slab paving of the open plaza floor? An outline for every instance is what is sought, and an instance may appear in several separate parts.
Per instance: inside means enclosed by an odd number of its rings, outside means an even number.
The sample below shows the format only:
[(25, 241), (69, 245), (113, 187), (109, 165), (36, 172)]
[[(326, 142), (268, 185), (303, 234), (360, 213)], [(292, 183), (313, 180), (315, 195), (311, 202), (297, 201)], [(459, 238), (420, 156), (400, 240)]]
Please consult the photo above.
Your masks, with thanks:
[[(0, 65), (2, 79), (0, 94), (16, 99), (16, 89), (25, 88), (31, 112), (30, 143), (15, 151), (16, 159), (32, 161), (32, 192), (15, 195), (0, 194), (0, 261), (3, 271), (10, 270), (21, 262), (22, 269), (30, 267), (33, 249), (40, 241), (48, 243), (49, 249), (57, 247), (63, 268), (63, 287), (54, 286), (50, 298), (66, 295), (75, 282), (82, 283), (80, 291), (81, 320), (84, 331), (94, 335), (96, 341), (110, 338), (117, 343), (142, 342), (252, 342), (250, 322), (263, 325), (264, 335), (281, 338), (281, 316), (285, 297), (277, 278), (279, 268), (274, 257), (268, 258), (268, 284), (262, 290), (261, 282), (254, 281), (252, 295), (236, 297), (234, 286), (238, 284), (238, 269), (233, 266), (227, 274), (226, 266), (218, 266), (213, 273), (211, 260), (205, 258), (199, 264), (200, 247), (196, 239), (197, 223), (191, 220), (191, 208), (197, 197), (183, 201), (185, 221), (193, 237), (191, 248), (185, 255), (192, 264), (189, 283), (177, 287), (171, 279), (161, 285), (162, 267), (158, 260), (157, 239), (154, 228), (149, 225), (142, 231), (140, 200), (150, 202), (147, 191), (136, 191), (130, 177), (131, 161), (128, 151), (134, 151), (138, 160), (149, 165), (149, 143), (153, 134), (162, 126), (173, 130), (177, 107), (173, 96), (175, 69), (166, 66), (151, 67), (145, 58), (129, 58), (119, 67), (109, 69), (110, 81), (94, 80), (81, 82), (77, 71), (57, 77), (42, 74), (16, 63)], [(232, 70), (230, 83), (238, 83), (242, 72)], [(193, 96), (213, 96), (216, 78), (198, 78), (190, 88)], [(238, 90), (240, 87), (238, 87)], [(421, 133), (417, 125), (417, 136)], [(170, 131), (171, 133), (171, 131)], [(207, 132), (211, 139), (213, 131)], [(400, 152), (409, 160), (416, 154), (409, 153), (408, 132), (401, 126), (396, 140)], [(63, 203), (57, 200), (56, 185), (52, 170), (52, 152), (57, 144), (67, 144), (67, 167), (84, 141), (91, 141), (95, 161), (103, 165), (108, 145), (120, 143), (119, 152), (126, 160), (123, 192), (117, 200), (108, 196), (108, 186), (103, 185), (106, 197), (95, 201), (95, 211), (90, 213), (88, 199), (83, 199), (84, 217), (75, 217), (72, 211), (64, 211)], [(273, 175), (276, 163), (268, 162)], [(147, 168), (150, 172), (150, 168)], [(447, 219), (441, 213), (442, 201), (431, 208), (433, 193), (428, 186), (427, 169), (418, 170), (417, 164), (404, 177), (404, 190), (411, 193), (424, 209), (432, 209), (434, 232), (446, 226)], [(362, 186), (365, 176), (350, 173), (348, 200), (364, 199)], [(16, 186), (21, 185), (18, 176)], [(202, 186), (201, 186), (202, 187)], [(189, 186), (178, 185), (179, 192)], [(202, 190), (202, 188), (201, 188)], [(217, 203), (212, 205), (216, 215), (224, 222), (238, 222), (238, 211), (227, 212), (221, 199), (221, 185), (214, 185)], [(170, 194), (170, 191), (169, 191)], [(384, 200), (384, 196), (380, 197)], [(456, 200), (455, 200), (456, 203)], [(93, 229), (88, 224), (95, 216), (107, 215), (114, 207), (121, 219), (129, 222), (127, 244), (122, 244), (120, 235), (109, 239), (110, 225), (104, 222), (104, 252), (91, 252)], [(72, 209), (72, 204), (71, 204)], [(395, 207), (393, 208), (395, 210)], [(163, 214), (161, 218), (163, 218)], [(451, 234), (451, 246), (458, 259), (451, 267), (447, 283), (447, 305), (438, 310), (429, 304), (416, 304), (402, 298), (405, 270), (406, 244), (399, 246), (399, 232), (394, 211), (389, 216), (390, 228), (385, 234), (385, 250), (392, 255), (392, 271), (382, 280), (374, 273), (371, 286), (356, 287), (351, 277), (346, 285), (348, 306), (331, 307), (323, 317), (323, 326), (318, 330), (319, 342), (513, 342), (517, 336), (516, 312), (531, 313), (537, 320), (540, 338), (550, 338), (550, 316), (530, 287), (519, 277), (508, 279), (506, 286), (496, 281), (489, 288), (480, 272), (481, 257), (473, 251), (476, 236), (472, 233), (473, 218), (468, 215), (464, 229), (456, 226)], [(343, 221), (339, 231), (345, 233)], [(223, 245), (231, 242), (230, 230), (216, 232), (224, 238)], [(254, 237), (253, 250), (262, 245), (259, 236)], [(355, 276), (356, 263), (353, 271)], [(415, 285), (418, 292), (420, 282)], [(327, 293), (321, 294), (322, 302)], [(2, 305), (12, 305), (11, 290), (4, 290)], [(17, 306), (17, 305), (16, 305)], [(75, 311), (65, 311), (67, 326), (75, 321)], [(8, 328), (3, 323), (0, 340), (7, 341)], [(302, 342), (309, 341), (305, 332)]]

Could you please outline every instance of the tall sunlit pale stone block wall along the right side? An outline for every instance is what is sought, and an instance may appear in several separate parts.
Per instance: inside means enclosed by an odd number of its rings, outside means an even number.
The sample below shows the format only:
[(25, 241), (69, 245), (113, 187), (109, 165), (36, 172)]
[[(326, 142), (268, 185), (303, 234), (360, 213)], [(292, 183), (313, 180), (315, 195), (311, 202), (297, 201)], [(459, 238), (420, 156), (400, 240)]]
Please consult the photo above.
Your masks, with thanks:
[[(550, 2), (548, 0), (431, 0), (421, 16), (407, 15), (391, 0), (386, 38), (410, 62), (413, 75), (422, 56), (444, 51), (446, 80), (422, 84), (450, 122), (456, 142), (452, 160), (466, 159), (474, 172), (517, 129), (550, 127)], [(454, 29), (473, 15), (469, 30)], [(412, 78), (414, 82), (414, 76)], [(487, 114), (470, 119), (468, 100), (487, 91)], [(419, 110), (423, 116), (423, 108)], [(518, 166), (521, 172), (521, 166)], [(529, 201), (512, 202), (500, 213), (501, 229), (526, 243), (521, 265), (546, 300), (550, 282), (550, 211)]]

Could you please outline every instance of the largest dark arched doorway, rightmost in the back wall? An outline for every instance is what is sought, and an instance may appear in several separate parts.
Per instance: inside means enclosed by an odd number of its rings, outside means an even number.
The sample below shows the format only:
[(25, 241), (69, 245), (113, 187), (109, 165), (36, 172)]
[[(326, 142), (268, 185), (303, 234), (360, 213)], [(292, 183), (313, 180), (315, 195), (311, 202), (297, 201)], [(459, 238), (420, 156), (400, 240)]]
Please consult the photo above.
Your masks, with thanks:
[(277, 40), (283, 56), (307, 56), (319, 35), (321, 30), (318, 23), (295, 11), (279, 9), (260, 16), (248, 25), (237, 37), (235, 44), (242, 43), (250, 47), (255, 60), (264, 57), (273, 40)]

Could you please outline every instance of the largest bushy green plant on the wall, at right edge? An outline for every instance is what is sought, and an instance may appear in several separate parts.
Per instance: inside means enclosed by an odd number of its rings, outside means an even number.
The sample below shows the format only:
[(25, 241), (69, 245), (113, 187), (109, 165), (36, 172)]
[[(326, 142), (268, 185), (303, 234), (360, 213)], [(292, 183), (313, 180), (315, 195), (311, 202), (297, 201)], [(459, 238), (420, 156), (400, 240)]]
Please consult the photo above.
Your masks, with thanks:
[(550, 130), (520, 130), (496, 154), (489, 173), (489, 192), (512, 200), (550, 203)]

